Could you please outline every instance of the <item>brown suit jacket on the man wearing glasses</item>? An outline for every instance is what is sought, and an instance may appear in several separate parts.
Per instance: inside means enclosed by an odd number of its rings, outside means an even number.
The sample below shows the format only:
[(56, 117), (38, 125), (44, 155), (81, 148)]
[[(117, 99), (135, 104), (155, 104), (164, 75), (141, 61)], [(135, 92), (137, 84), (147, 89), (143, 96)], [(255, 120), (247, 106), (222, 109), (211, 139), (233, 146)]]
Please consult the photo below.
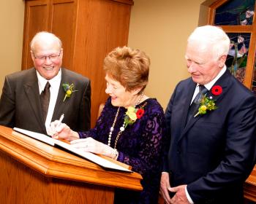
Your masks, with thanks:
[[(73, 83), (75, 90), (78, 90), (64, 102), (63, 83)], [(61, 85), (52, 121), (59, 119), (61, 114), (65, 115), (62, 122), (69, 125), (72, 130), (89, 130), (91, 125), (90, 80), (65, 68), (61, 68)], [(0, 125), (20, 127), (46, 134), (35, 68), (5, 77), (0, 99)]]

